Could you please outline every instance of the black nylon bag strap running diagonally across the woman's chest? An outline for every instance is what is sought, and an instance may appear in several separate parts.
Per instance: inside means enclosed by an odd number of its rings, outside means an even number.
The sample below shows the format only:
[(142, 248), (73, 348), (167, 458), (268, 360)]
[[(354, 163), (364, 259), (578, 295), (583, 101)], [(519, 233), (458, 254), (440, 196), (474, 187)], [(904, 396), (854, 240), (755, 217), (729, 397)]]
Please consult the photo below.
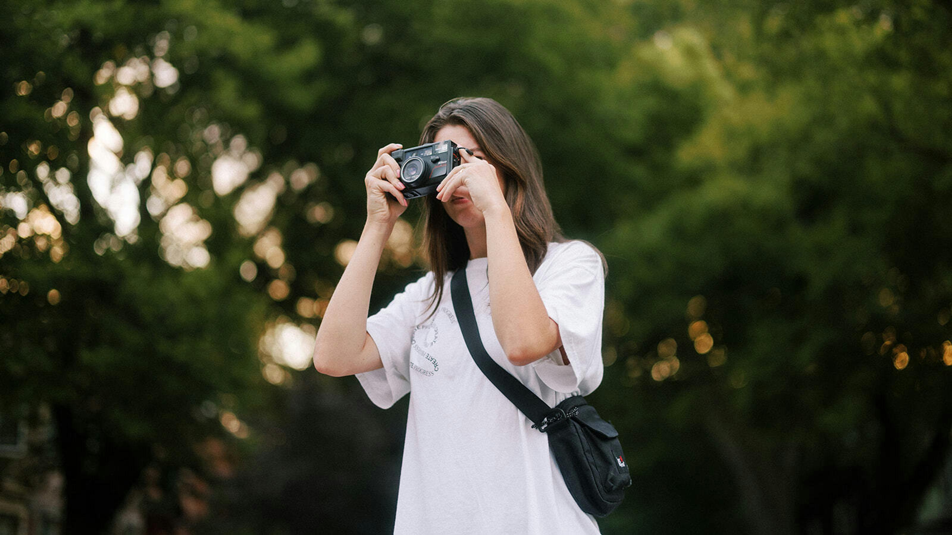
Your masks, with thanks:
[(503, 392), (503, 395), (512, 402), (512, 405), (521, 410), (526, 418), (538, 426), (552, 409), (545, 405), (545, 402), (535, 395), (532, 390), (528, 389), (526, 385), (520, 383), (503, 367), (496, 364), (496, 361), (492, 360), (492, 357), (486, 352), (486, 347), (483, 347), (483, 340), (479, 336), (476, 316), (473, 314), (473, 302), (469, 297), (469, 285), (466, 283), (466, 266), (453, 273), (449, 291), (452, 294), (456, 318), (460, 322), (460, 330), (463, 331), (463, 338), (466, 340), (466, 347), (476, 362), (476, 366), (486, 375), (486, 379), (490, 383), (499, 388), (500, 392)]

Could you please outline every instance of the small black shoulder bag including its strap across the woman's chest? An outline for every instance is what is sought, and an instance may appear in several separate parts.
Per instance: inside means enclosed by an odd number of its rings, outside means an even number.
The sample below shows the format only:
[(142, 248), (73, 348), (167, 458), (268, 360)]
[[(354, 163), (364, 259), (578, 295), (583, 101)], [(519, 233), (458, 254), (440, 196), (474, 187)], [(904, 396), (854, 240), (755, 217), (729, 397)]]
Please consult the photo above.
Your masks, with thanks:
[(476, 325), (466, 284), (466, 267), (453, 274), (450, 292), (466, 347), (476, 366), (532, 421), (532, 428), (548, 435), (548, 446), (575, 502), (583, 511), (597, 517), (615, 510), (625, 497), (625, 488), (631, 485), (615, 427), (605, 422), (582, 396), (572, 396), (554, 408), (545, 405), (532, 390), (492, 360)]

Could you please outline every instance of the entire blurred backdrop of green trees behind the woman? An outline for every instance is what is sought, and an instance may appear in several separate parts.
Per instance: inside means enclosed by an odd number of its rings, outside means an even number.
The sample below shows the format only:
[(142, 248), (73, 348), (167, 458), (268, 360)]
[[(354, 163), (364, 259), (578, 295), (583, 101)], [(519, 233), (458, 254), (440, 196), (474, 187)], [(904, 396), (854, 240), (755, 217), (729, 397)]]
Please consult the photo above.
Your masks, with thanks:
[(0, 5), (0, 534), (391, 530), (407, 400), (310, 352), (461, 95), (608, 261), (605, 533), (952, 531), (947, 2)]

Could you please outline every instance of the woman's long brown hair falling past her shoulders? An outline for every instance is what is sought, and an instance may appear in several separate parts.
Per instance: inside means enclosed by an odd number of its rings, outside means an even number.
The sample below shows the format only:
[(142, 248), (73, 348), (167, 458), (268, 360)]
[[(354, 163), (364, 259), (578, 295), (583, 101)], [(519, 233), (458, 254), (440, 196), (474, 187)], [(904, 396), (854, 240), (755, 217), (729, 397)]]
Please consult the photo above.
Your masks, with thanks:
[[(529, 271), (535, 273), (545, 258), (549, 242), (565, 242), (545, 195), (542, 161), (535, 144), (512, 113), (491, 98), (450, 100), (426, 123), (420, 144), (432, 143), (436, 132), (447, 125), (466, 127), (486, 159), (502, 174), (506, 204), (512, 212), (519, 244)], [(466, 266), (469, 246), (463, 228), (446, 214), (433, 195), (426, 196), (423, 219), (426, 222), (423, 249), (435, 282), (429, 305), (432, 306), (443, 297), (446, 273)]]

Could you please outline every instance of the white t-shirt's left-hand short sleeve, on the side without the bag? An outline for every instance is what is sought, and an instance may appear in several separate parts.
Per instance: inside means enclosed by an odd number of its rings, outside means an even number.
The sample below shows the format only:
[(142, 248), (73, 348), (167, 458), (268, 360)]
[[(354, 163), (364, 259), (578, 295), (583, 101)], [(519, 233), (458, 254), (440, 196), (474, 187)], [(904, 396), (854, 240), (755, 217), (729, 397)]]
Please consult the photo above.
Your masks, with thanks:
[(428, 272), (408, 284), (387, 307), (367, 318), (367, 334), (377, 345), (384, 367), (356, 377), (376, 406), (389, 408), (410, 391), (410, 340), (432, 287), (433, 273)]

